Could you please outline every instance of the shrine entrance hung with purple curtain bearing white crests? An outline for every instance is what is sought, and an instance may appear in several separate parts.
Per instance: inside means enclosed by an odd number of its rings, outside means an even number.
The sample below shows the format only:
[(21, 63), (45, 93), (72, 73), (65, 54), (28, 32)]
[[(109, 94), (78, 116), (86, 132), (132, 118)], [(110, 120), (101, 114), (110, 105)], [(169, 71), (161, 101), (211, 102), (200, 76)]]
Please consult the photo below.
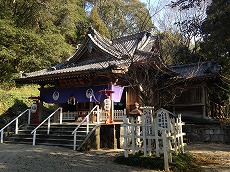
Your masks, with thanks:
[[(110, 95), (111, 106), (105, 108), (105, 100), (107, 95), (102, 92), (111, 90)], [(81, 122), (85, 116), (95, 107), (100, 107), (100, 122), (104, 122), (110, 118), (110, 115), (115, 121), (122, 121), (126, 115), (125, 102), (123, 94), (124, 87), (117, 85), (100, 85), (92, 87), (71, 87), (71, 88), (43, 88), (40, 90), (41, 99), (46, 103), (56, 104), (63, 109), (63, 121), (66, 122)], [(123, 95), (123, 98), (122, 98)], [(123, 106), (121, 106), (123, 105)], [(124, 107), (124, 109), (121, 109)], [(118, 108), (118, 109), (117, 109)], [(96, 113), (91, 116), (91, 122), (97, 122)], [(58, 118), (59, 120), (59, 118)], [(56, 121), (58, 122), (58, 121)]]

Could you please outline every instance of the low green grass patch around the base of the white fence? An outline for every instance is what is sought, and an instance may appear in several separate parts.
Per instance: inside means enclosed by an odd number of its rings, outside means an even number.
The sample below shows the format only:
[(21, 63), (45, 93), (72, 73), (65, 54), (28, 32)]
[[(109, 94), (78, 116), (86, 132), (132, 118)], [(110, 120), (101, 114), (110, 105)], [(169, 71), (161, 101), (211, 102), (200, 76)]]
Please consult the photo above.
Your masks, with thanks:
[[(125, 158), (123, 155), (115, 159), (116, 163), (136, 166), (151, 170), (164, 170), (164, 158), (151, 156), (144, 157), (141, 154), (129, 155)], [(173, 156), (173, 163), (170, 164), (170, 170), (173, 172), (204, 172), (199, 162), (189, 153)]]

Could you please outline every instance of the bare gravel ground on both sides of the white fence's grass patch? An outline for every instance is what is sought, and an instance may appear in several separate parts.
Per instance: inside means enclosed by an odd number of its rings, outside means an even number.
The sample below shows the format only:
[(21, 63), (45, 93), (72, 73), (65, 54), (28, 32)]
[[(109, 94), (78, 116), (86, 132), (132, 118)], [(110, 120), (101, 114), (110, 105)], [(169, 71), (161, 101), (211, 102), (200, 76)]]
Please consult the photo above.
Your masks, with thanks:
[[(230, 145), (191, 144), (186, 151), (199, 156), (211, 172), (230, 171)], [(0, 172), (154, 172), (116, 164), (122, 150), (78, 152), (67, 148), (0, 144)]]

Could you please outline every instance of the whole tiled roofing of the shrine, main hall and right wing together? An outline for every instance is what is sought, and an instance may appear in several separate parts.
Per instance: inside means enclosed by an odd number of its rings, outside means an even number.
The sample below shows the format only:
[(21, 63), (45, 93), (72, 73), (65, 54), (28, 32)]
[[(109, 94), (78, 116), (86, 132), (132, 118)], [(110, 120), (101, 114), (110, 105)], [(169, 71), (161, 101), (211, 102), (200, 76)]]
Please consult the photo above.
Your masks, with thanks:
[[(220, 66), (214, 61), (192, 63), (165, 67), (157, 52), (157, 36), (152, 31), (143, 31), (133, 35), (123, 36), (113, 40), (108, 40), (101, 36), (96, 30), (90, 28), (85, 42), (66, 61), (59, 63), (49, 69), (43, 69), (31, 73), (25, 73), (16, 81), (36, 79), (46, 80), (58, 76), (68, 76), (70, 74), (80, 74), (84, 72), (98, 71), (111, 68), (113, 66), (129, 66), (133, 62), (145, 61), (154, 64), (158, 69), (164, 69), (173, 76), (179, 78), (197, 78), (213, 76), (220, 72)], [(103, 57), (82, 58), (87, 53), (88, 46), (103, 52)], [(90, 53), (89, 53), (90, 54)]]

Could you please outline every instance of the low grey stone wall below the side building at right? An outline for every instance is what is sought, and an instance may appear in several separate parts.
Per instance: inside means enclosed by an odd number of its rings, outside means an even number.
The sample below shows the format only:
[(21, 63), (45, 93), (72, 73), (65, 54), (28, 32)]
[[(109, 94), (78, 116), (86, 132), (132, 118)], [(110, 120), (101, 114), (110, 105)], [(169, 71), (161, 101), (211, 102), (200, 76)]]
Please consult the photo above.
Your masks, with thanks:
[(186, 124), (183, 126), (187, 142), (210, 142), (230, 144), (230, 125)]

